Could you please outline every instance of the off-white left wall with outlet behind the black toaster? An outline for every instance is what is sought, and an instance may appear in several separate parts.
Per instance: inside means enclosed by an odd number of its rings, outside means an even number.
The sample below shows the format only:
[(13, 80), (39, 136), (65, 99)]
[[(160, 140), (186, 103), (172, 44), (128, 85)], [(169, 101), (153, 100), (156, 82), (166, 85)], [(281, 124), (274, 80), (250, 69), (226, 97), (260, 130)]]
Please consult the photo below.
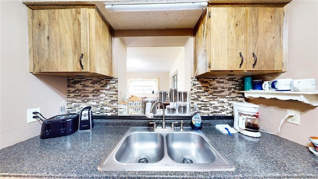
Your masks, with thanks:
[(40, 134), (40, 122), (27, 124), (27, 109), (53, 117), (66, 105), (66, 78), (28, 73), (26, 9), (21, 0), (0, 0), (1, 149)]

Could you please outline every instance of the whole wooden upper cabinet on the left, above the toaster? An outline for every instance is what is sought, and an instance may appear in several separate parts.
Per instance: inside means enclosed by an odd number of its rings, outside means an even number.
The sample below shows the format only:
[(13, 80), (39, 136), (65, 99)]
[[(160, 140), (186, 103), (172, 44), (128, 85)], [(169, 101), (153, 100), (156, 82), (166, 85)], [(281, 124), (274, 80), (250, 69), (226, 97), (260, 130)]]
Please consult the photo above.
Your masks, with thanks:
[(30, 72), (113, 76), (111, 29), (94, 8), (39, 9), (29, 14)]

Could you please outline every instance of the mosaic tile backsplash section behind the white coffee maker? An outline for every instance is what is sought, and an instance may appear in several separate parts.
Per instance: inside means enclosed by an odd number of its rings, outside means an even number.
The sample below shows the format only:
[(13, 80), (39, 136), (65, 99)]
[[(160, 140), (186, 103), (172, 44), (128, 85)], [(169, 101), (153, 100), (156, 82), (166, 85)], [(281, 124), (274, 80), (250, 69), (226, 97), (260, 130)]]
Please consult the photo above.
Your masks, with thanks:
[(204, 116), (233, 115), (232, 102), (244, 102), (241, 77), (197, 78), (191, 88), (191, 106), (194, 103)]

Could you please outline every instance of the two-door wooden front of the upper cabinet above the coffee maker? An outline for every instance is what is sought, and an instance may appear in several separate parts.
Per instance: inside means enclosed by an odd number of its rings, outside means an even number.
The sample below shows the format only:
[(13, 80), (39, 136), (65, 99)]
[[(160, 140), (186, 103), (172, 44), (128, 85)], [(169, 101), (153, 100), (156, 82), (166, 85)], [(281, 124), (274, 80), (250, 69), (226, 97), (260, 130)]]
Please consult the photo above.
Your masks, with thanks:
[(283, 71), (283, 7), (209, 7), (209, 12), (209, 68), (200, 62), (198, 69), (208, 70), (198, 70), (198, 76)]

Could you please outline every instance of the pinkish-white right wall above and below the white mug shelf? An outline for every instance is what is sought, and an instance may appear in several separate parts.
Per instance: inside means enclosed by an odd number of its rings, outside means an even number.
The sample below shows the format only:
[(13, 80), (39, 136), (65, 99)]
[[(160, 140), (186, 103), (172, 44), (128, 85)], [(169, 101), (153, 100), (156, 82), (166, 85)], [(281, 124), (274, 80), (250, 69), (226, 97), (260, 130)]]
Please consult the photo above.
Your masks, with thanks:
[[(318, 80), (318, 1), (292, 0), (289, 3), (288, 70), (282, 74), (261, 76), (263, 80)], [(284, 123), (279, 136), (310, 146), (308, 137), (318, 136), (318, 107), (299, 101), (257, 98), (250, 102), (260, 105), (260, 127), (277, 132), (287, 109), (300, 111), (300, 125)]]

